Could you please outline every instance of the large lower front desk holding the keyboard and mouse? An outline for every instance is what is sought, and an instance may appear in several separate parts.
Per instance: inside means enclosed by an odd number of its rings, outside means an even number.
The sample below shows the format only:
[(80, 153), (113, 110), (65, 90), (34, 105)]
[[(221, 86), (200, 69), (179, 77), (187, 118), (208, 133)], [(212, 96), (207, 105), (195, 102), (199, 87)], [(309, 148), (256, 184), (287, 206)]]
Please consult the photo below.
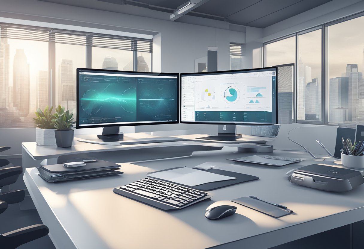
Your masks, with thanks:
[[(310, 159), (300, 152), (272, 154)], [(251, 154), (224, 147), (186, 158), (122, 163), (122, 175), (62, 183), (48, 183), (37, 175), (36, 168), (28, 168), (24, 182), (43, 223), (50, 228), (52, 241), (62, 249), (264, 249), (364, 219), (364, 185), (349, 192), (331, 193), (288, 181), (288, 170), (312, 164), (312, 160), (283, 167), (225, 160), (244, 155)], [(112, 192), (113, 187), (144, 178), (151, 171), (204, 162), (231, 163), (224, 169), (260, 179), (210, 191), (211, 200), (170, 212)], [(226, 201), (249, 195), (285, 205), (296, 214), (276, 219)], [(221, 204), (237, 205), (237, 213), (207, 220), (206, 208)]]

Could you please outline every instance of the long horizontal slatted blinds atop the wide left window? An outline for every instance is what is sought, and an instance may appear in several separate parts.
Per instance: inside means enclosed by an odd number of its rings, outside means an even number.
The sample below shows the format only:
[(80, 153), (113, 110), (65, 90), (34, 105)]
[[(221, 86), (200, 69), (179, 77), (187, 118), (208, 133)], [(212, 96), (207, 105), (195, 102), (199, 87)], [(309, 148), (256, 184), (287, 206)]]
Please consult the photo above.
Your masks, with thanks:
[(152, 52), (153, 50), (153, 40), (150, 39), (13, 24), (0, 24), (0, 30), (0, 36), (8, 39), (35, 40), (139, 52)]

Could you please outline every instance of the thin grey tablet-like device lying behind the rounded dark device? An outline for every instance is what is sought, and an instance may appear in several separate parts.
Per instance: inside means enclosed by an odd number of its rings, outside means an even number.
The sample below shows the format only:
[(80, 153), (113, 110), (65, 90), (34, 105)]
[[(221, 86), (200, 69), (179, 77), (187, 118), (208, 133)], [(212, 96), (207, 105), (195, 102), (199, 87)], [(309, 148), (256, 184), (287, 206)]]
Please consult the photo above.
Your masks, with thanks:
[(302, 161), (300, 158), (278, 157), (271, 155), (252, 155), (249, 157), (240, 157), (234, 159), (228, 159), (235, 162), (248, 162), (257, 163), (268, 166), (284, 166), (290, 163), (296, 163)]

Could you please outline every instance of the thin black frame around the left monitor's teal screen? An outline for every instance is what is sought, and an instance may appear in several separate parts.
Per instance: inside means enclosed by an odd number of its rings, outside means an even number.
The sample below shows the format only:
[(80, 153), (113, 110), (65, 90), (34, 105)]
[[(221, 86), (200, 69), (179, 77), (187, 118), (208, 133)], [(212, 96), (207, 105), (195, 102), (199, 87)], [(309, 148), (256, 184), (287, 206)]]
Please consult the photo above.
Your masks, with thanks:
[[(99, 71), (99, 72), (119, 72), (130, 75), (155, 75), (155, 76), (177, 76), (177, 121), (161, 121), (161, 122), (153, 122), (153, 123), (114, 123), (107, 125), (89, 125), (89, 126), (80, 126), (79, 125), (79, 86), (80, 86), (80, 71)], [(112, 126), (139, 126), (139, 125), (164, 125), (164, 124), (178, 124), (179, 123), (179, 96), (180, 96), (180, 86), (179, 86), (179, 74), (178, 73), (163, 73), (163, 72), (134, 72), (134, 71), (121, 71), (121, 70), (107, 70), (107, 69), (94, 69), (94, 68), (77, 68), (76, 69), (76, 129), (84, 129), (84, 128), (99, 128), (99, 127), (112, 127)]]

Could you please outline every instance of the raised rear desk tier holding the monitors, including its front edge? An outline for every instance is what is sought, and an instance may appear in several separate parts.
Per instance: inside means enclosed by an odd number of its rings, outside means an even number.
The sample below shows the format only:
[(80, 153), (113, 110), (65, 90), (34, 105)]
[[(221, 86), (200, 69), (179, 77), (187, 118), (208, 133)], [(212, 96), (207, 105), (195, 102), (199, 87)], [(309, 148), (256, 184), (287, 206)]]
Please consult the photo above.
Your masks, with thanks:
[[(132, 138), (149, 138), (145, 133), (125, 134)], [(196, 139), (207, 136), (207, 134), (192, 134), (175, 136), (178, 138), (191, 139), (192, 141), (144, 143), (139, 145), (102, 145), (79, 142), (78, 140), (94, 139), (95, 135), (83, 135), (74, 139), (72, 147), (61, 148), (56, 145), (40, 146), (35, 142), (21, 143), (23, 151), (23, 168), (40, 166), (47, 159), (47, 165), (66, 162), (67, 159), (82, 157), (97, 157), (112, 162), (135, 162), (171, 157), (187, 157), (195, 151), (221, 150), (223, 146), (246, 148), (252, 145), (232, 144), (217, 141), (205, 141)], [(239, 141), (266, 141), (270, 138), (254, 137), (244, 135)], [(264, 145), (256, 145), (264, 148)], [(119, 153), (115, 153), (118, 151)]]

